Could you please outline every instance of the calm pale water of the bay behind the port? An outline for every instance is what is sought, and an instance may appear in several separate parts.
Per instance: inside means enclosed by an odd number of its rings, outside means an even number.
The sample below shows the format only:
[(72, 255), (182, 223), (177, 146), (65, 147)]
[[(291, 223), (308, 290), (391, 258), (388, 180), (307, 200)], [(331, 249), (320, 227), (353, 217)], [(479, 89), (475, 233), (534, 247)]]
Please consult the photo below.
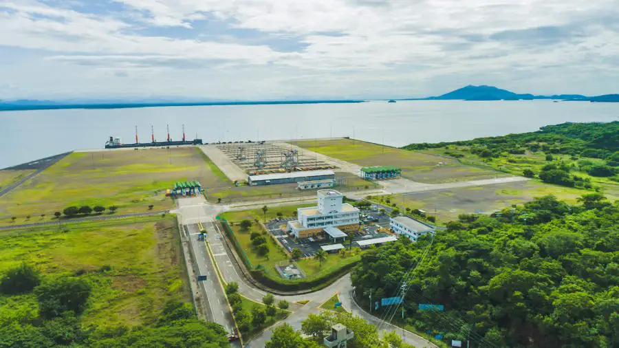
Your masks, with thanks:
[(197, 135), (204, 142), (349, 136), (391, 146), (535, 131), (563, 122), (619, 120), (619, 103), (551, 100), (226, 105), (0, 112), (0, 168), (74, 149), (101, 149), (109, 136), (149, 142)]

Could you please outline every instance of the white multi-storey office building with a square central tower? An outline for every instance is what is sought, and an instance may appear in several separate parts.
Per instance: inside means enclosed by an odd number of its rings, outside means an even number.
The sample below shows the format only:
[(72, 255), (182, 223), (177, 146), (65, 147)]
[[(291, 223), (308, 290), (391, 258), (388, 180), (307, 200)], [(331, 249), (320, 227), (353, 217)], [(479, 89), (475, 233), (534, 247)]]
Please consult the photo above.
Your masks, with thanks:
[(344, 195), (335, 190), (318, 190), (317, 194), (318, 206), (298, 208), (296, 221), (288, 222), (288, 229), (294, 237), (307, 238), (326, 233), (338, 241), (346, 238), (346, 231), (358, 229), (359, 209), (343, 203)]

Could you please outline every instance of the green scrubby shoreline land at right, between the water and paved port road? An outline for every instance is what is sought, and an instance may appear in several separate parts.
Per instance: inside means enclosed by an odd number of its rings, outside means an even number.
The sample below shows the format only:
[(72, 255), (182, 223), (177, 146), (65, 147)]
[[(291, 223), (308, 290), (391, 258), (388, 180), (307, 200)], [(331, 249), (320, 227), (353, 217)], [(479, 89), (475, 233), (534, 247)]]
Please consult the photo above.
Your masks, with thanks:
[(410, 144), (408, 150), (459, 158), (460, 162), (492, 166), (499, 171), (534, 177), (549, 184), (585, 189), (617, 190), (619, 121), (564, 123), (531, 133), (477, 138), (459, 142)]

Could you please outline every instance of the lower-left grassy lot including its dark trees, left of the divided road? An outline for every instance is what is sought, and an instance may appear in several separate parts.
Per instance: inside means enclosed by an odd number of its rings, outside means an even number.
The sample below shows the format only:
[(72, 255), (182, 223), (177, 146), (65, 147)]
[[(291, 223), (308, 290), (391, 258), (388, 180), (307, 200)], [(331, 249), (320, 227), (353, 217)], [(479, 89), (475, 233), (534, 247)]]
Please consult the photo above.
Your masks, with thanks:
[(171, 215), (3, 233), (0, 347), (228, 347), (197, 320), (180, 260)]

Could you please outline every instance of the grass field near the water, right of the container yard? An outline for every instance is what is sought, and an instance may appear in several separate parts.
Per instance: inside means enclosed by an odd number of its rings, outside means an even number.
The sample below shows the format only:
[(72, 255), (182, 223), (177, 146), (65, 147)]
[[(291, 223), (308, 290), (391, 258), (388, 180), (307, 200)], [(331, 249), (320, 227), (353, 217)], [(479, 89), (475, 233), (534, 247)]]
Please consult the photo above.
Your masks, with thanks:
[(467, 166), (445, 156), (406, 151), (359, 140), (308, 140), (292, 143), (360, 166), (399, 166), (402, 168), (402, 177), (428, 184), (481, 180), (504, 175), (487, 166)]

